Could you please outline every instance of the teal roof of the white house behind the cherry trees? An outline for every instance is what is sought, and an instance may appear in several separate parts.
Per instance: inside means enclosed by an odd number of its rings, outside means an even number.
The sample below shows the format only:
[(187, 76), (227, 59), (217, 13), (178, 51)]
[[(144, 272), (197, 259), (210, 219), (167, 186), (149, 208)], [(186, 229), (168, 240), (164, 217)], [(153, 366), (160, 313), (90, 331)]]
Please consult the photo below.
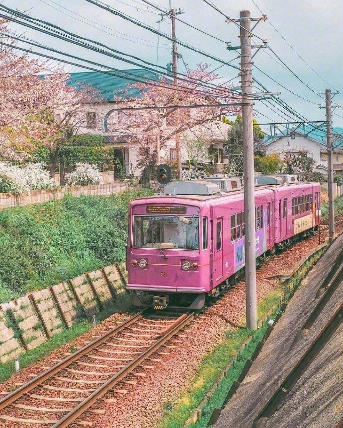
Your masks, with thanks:
[[(123, 98), (140, 96), (140, 91), (128, 88), (127, 85), (133, 83), (145, 83), (159, 80), (156, 72), (145, 69), (121, 70), (118, 72), (86, 71), (80, 73), (70, 73), (67, 81), (68, 86), (85, 90), (87, 86), (95, 88), (105, 101), (114, 101), (114, 95)], [(126, 90), (126, 91), (125, 91)]]

